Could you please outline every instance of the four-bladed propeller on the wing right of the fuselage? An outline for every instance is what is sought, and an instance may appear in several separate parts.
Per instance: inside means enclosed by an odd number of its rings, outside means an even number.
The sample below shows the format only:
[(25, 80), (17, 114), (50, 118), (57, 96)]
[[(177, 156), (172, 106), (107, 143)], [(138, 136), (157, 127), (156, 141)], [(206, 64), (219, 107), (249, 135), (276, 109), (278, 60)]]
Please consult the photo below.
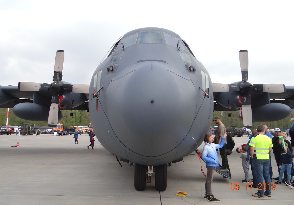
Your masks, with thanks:
[(242, 103), (242, 117), (244, 127), (252, 127), (251, 92), (285, 92), (283, 84), (251, 84), (248, 80), (248, 51), (239, 52), (242, 81), (235, 84), (213, 83), (213, 92), (238, 92)]

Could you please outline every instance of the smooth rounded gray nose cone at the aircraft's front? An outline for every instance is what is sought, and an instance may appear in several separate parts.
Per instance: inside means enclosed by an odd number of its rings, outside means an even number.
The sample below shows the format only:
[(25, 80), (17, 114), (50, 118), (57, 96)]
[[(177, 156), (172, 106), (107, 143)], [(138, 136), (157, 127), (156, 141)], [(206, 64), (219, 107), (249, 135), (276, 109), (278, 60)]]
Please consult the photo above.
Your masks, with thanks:
[(163, 62), (136, 63), (106, 91), (108, 120), (118, 139), (143, 156), (160, 156), (186, 137), (196, 115), (190, 78)]

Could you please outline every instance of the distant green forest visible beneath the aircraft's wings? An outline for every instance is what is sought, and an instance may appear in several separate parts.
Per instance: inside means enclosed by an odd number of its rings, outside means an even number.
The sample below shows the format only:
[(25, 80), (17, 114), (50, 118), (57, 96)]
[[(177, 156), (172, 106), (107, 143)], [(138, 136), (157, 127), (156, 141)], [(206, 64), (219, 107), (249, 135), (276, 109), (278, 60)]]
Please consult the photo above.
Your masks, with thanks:
[[(61, 110), (64, 115), (64, 118), (59, 120), (59, 123), (64, 124), (64, 126), (88, 126), (90, 123), (89, 113), (86, 110)], [(69, 113), (73, 113), (73, 116), (69, 116)], [(231, 113), (231, 117), (228, 117), (228, 113)], [(214, 111), (213, 118), (219, 116), (221, 118), (222, 123), (225, 127), (237, 126), (243, 127), (243, 121), (238, 118), (239, 111)], [(6, 116), (7, 116), (7, 108), (0, 108), (0, 125), (6, 125)], [(294, 110), (292, 110), (291, 114), (279, 121), (275, 122), (258, 122), (253, 123), (252, 129), (256, 129), (257, 125), (264, 124), (268, 125), (269, 129), (280, 128), (282, 131), (290, 129), (291, 122), (290, 119), (294, 118)], [(21, 118), (16, 117), (12, 109), (9, 109), (8, 116), (8, 125), (16, 125), (23, 126), (24, 123), (35, 123), (38, 127), (43, 125), (48, 125), (48, 122), (42, 121), (28, 121), (23, 120)], [(214, 121), (212, 121), (211, 126), (217, 126)]]

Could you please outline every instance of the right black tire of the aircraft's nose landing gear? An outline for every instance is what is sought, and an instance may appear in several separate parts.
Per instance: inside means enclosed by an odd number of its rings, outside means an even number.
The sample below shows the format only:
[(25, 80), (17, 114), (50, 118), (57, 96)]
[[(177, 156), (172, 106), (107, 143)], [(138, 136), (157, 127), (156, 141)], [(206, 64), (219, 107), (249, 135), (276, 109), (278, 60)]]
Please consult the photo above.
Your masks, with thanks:
[(165, 191), (167, 187), (167, 166), (166, 164), (154, 166), (155, 168), (155, 189)]

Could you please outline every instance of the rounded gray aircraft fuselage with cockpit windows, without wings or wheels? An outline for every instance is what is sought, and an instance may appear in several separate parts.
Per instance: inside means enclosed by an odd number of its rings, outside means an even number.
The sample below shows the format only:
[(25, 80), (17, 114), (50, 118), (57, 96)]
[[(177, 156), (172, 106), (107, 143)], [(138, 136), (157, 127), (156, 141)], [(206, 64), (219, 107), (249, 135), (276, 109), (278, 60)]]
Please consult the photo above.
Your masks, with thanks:
[(158, 166), (183, 158), (203, 142), (213, 117), (211, 79), (185, 44), (167, 29), (136, 29), (119, 39), (97, 67), (89, 116), (108, 151)]

